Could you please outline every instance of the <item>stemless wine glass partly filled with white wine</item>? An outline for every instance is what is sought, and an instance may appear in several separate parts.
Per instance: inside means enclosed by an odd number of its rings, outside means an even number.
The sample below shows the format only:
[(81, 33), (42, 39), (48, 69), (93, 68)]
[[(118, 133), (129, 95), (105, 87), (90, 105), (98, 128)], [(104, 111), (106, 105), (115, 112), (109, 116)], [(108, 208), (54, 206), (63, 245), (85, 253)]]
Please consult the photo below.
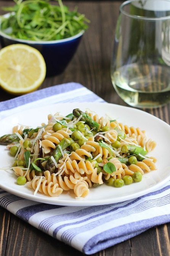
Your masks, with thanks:
[(170, 101), (169, 0), (129, 0), (120, 6), (111, 79), (130, 106), (156, 108)]

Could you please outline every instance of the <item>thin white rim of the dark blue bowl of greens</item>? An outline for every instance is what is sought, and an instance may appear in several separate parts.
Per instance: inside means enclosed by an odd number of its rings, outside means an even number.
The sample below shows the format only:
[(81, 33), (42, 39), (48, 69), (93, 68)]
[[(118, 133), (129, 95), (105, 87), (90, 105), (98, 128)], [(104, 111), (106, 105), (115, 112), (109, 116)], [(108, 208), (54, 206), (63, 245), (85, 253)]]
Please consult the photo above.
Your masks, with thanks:
[[(4, 17), (8, 17), (11, 13), (6, 13), (4, 15), (0, 15), (0, 17), (4, 16)], [(1, 21), (1, 19), (0, 19)], [(20, 43), (25, 43), (25, 44), (59, 44), (59, 43), (63, 43), (63, 42), (69, 42), (72, 41), (78, 37), (81, 37), (84, 34), (84, 30), (80, 31), (78, 34), (71, 36), (71, 37), (67, 37), (64, 39), (58, 39), (58, 40), (51, 40), (51, 41), (33, 41), (33, 40), (26, 40), (26, 39), (19, 39), (19, 38), (14, 38), (12, 36), (8, 36), (8, 34), (5, 34), (4, 32), (2, 32), (0, 30), (0, 36), (5, 37), (7, 39), (16, 41), (16, 42), (20, 42)]]

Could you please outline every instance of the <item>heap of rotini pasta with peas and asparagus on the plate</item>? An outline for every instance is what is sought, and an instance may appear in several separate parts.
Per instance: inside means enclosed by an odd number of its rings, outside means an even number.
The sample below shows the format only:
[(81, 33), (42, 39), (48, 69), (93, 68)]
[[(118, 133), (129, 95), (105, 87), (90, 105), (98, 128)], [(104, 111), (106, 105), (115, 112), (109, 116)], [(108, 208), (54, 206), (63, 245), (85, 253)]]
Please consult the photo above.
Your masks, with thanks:
[(126, 177), (139, 182), (144, 173), (156, 170), (157, 159), (147, 156), (156, 142), (145, 131), (90, 110), (74, 109), (67, 117), (57, 112), (48, 115), (47, 124), (15, 126), (13, 131), (14, 142), (6, 141), (13, 171), (34, 194), (55, 197), (72, 191), (83, 198), (92, 187), (120, 186), (119, 180), (126, 185)]

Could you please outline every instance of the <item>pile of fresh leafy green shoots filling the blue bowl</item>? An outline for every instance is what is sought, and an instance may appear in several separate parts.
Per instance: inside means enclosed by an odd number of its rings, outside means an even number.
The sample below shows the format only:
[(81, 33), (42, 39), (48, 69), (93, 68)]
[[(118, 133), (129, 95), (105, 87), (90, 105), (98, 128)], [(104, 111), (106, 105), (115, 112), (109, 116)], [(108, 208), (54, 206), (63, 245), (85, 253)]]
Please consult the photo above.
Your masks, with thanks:
[(9, 17), (1, 16), (1, 31), (14, 38), (51, 41), (68, 38), (88, 29), (85, 15), (69, 11), (61, 0), (14, 0), (14, 6), (3, 7)]

